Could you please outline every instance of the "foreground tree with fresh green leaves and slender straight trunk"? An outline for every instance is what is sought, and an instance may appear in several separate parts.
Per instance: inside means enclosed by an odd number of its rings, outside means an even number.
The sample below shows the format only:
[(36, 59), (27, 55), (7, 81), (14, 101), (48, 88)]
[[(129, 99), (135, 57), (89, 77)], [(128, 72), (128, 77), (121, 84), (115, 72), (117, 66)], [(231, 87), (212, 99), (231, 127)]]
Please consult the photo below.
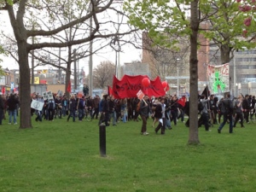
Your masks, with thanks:
[[(232, 50), (245, 46), (252, 48), (252, 39), (241, 38), (245, 15), (238, 12), (235, 0), (214, 1), (181, 1), (173, 2), (129, 0), (125, 3), (130, 13), (130, 22), (134, 26), (148, 32), (154, 39), (154, 44), (160, 44), (169, 49), (177, 49), (179, 38), (170, 41), (171, 37), (188, 37), (190, 39), (190, 111), (189, 143), (199, 143), (197, 131), (197, 103), (198, 99), (198, 67), (197, 47), (208, 46), (198, 42), (198, 35), (202, 33), (218, 44), (222, 61), (230, 61)], [(189, 15), (189, 16), (188, 16)], [(189, 19), (190, 18), (190, 19)], [(205, 27), (201, 27), (201, 24)], [(207, 26), (207, 27), (206, 27)], [(253, 31), (247, 32), (252, 34)], [(153, 45), (154, 45), (153, 44)]]

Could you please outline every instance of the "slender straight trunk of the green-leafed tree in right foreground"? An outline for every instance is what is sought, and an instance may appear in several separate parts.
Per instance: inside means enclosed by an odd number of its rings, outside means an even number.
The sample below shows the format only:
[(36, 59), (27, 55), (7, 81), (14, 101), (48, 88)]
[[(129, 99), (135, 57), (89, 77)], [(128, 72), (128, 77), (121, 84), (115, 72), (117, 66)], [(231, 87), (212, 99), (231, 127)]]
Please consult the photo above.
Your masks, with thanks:
[(189, 97), (189, 144), (199, 144), (198, 137), (198, 60), (197, 60), (197, 35), (199, 28), (198, 0), (191, 2), (190, 26), (190, 97)]

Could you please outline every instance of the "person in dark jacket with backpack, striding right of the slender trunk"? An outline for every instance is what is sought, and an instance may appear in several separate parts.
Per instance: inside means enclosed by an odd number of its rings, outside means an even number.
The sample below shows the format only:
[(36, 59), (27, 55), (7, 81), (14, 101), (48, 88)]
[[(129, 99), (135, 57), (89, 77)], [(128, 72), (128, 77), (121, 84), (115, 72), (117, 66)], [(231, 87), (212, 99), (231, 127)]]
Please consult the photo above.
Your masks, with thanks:
[(227, 98), (224, 100), (221, 100), (218, 103), (218, 108), (220, 109), (220, 113), (223, 115), (223, 122), (218, 127), (218, 133), (221, 133), (221, 130), (223, 129), (224, 125), (226, 124), (227, 120), (230, 120), (230, 133), (233, 133), (233, 102), (230, 99), (230, 94), (228, 94)]

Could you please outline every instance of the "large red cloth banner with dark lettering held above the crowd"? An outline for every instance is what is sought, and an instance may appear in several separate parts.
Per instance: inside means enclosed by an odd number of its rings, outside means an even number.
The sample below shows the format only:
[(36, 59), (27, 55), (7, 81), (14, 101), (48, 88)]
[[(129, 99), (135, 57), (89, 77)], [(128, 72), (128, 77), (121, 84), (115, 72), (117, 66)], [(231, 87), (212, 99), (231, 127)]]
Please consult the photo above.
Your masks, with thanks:
[(127, 97), (137, 97), (137, 92), (142, 90), (145, 95), (148, 96), (166, 96), (160, 78), (157, 77), (154, 80), (150, 80), (148, 87), (144, 87), (142, 84), (143, 78), (148, 78), (147, 75), (130, 76), (124, 75), (119, 80), (113, 76), (113, 96), (117, 99), (123, 99)]

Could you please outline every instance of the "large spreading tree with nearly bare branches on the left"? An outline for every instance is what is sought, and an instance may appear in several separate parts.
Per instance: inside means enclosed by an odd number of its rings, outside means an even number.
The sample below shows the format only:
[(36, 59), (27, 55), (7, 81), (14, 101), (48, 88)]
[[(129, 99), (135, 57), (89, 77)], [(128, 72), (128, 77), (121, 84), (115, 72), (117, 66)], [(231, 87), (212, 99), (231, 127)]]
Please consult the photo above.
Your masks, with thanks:
[[(0, 0), (0, 9), (7, 10), (9, 20), (15, 34), (17, 44), (18, 63), (20, 67), (20, 128), (32, 127), (30, 115), (30, 66), (29, 53), (34, 49), (43, 49), (47, 47), (70, 47), (76, 44), (84, 44), (96, 38), (112, 38), (122, 37), (125, 34), (131, 33), (135, 30), (129, 29), (126, 32), (112, 30), (108, 31), (107, 26), (114, 25), (113, 20), (98, 20), (102, 18), (103, 13), (108, 9), (119, 11), (111, 7), (113, 0), (88, 0), (73, 2), (72, 9), (75, 15), (78, 9), (88, 9), (82, 15), (77, 15), (71, 20), (65, 20), (63, 23), (55, 22), (54, 16), (61, 10), (66, 8), (67, 3), (71, 1), (4, 1)], [(80, 7), (81, 6), (81, 7)], [(80, 13), (80, 12), (79, 12)], [(63, 31), (75, 28), (79, 23), (89, 23), (91, 18), (93, 28), (90, 32), (83, 33), (82, 37), (68, 39), (67, 42), (51, 42), (52, 37), (63, 34)], [(29, 24), (30, 26), (28, 26)], [(106, 26), (107, 25), (107, 26)], [(64, 35), (64, 34), (63, 34)], [(41, 38), (40, 42), (31, 42), (31, 38)], [(30, 38), (30, 39), (29, 39)]]

